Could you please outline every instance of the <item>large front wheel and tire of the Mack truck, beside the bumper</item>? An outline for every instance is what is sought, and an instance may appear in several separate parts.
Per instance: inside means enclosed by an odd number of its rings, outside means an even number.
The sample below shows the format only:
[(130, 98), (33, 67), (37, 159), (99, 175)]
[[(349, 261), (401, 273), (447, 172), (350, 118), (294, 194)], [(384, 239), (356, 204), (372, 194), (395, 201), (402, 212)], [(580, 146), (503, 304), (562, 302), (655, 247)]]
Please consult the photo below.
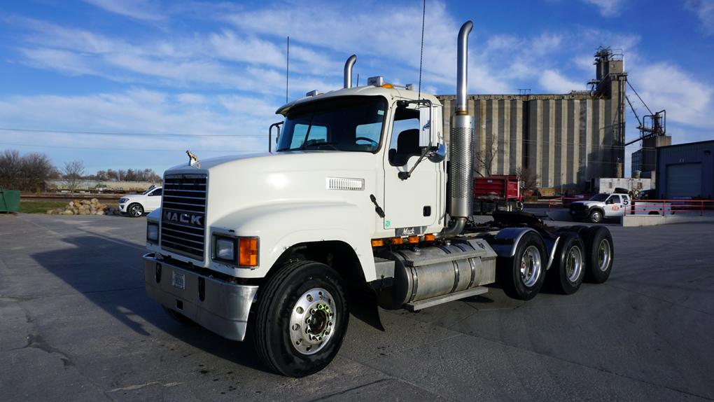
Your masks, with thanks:
[(258, 296), (255, 339), (266, 366), (290, 377), (325, 368), (342, 345), (349, 311), (339, 274), (314, 261), (282, 266)]

